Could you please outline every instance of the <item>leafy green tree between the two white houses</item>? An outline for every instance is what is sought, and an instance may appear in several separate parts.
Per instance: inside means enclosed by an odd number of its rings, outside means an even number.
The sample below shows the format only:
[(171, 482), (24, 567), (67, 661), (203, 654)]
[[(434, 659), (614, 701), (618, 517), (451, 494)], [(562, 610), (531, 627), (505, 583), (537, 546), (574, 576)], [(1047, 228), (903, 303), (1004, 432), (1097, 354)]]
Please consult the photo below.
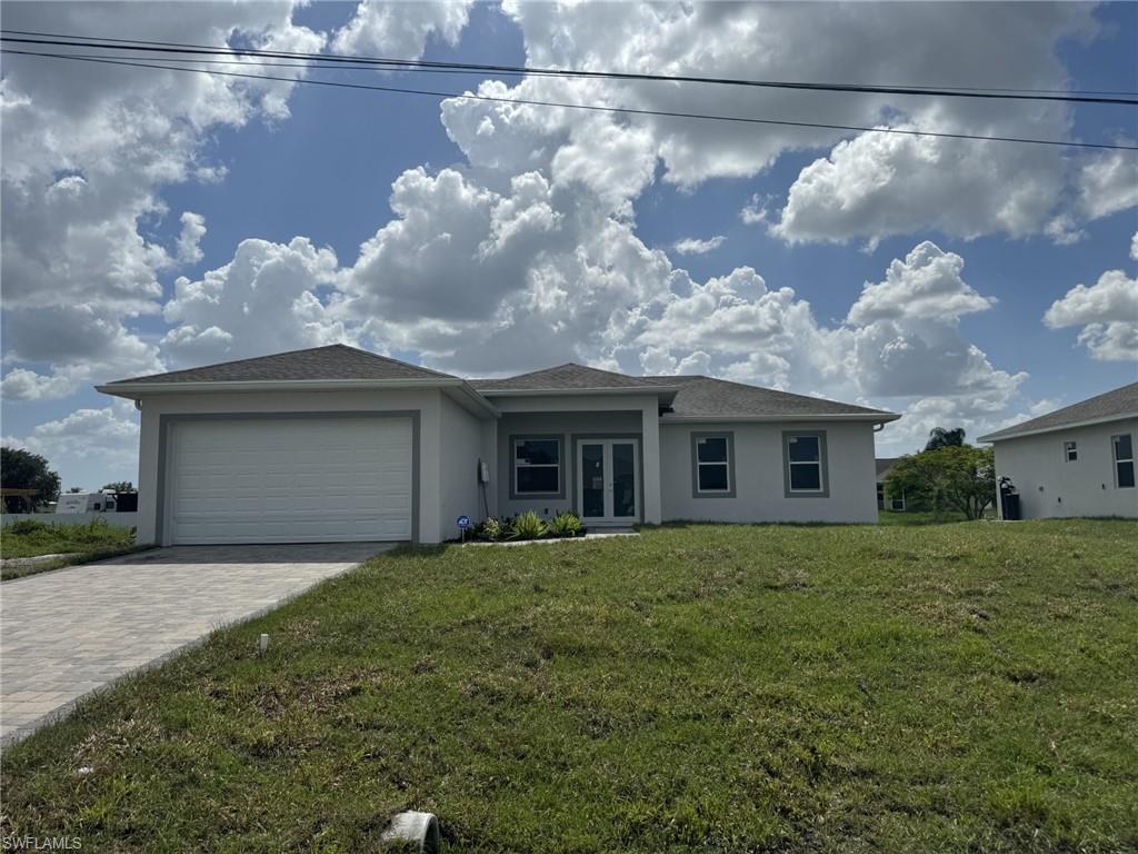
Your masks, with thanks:
[(885, 478), (891, 495), (904, 491), (932, 506), (979, 519), (996, 500), (996, 460), (990, 447), (945, 445), (902, 457)]

